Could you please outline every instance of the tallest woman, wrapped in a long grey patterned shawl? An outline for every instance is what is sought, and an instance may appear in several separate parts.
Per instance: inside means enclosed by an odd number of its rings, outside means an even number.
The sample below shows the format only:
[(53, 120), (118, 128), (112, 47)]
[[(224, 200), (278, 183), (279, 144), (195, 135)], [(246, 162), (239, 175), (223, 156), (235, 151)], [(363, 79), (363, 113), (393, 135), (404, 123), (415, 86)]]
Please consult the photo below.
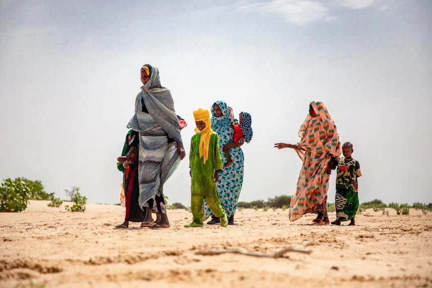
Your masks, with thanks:
[[(147, 224), (142, 227), (168, 228), (163, 185), (185, 156), (183, 141), (171, 92), (161, 86), (158, 68), (144, 65), (141, 82), (144, 86), (135, 100), (135, 115), (128, 127), (139, 138), (138, 202), (146, 210), (143, 223)], [(159, 222), (153, 223), (152, 211), (161, 215)]]

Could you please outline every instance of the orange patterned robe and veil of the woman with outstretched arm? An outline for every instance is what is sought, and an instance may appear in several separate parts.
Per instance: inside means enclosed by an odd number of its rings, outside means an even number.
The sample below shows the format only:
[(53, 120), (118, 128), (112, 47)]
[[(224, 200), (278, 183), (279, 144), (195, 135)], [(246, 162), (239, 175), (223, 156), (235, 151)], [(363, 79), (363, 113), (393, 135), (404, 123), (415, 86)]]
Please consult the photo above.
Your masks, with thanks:
[(306, 116), (298, 135), (301, 140), (296, 150), (303, 165), (297, 181), (297, 187), (291, 198), (289, 220), (295, 221), (306, 213), (327, 214), (323, 202), (327, 199), (330, 175), (326, 173), (332, 156), (339, 158), (341, 143), (336, 124), (319, 100), (310, 102), (316, 117)]

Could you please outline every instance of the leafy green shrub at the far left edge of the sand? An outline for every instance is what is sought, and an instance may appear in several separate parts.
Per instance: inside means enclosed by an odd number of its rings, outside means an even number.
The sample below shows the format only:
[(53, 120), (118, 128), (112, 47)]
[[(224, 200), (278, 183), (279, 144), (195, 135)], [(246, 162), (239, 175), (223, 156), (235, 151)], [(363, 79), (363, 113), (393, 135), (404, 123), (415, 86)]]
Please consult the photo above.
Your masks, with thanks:
[(24, 211), (29, 204), (30, 189), (20, 178), (3, 180), (0, 186), (0, 212)]

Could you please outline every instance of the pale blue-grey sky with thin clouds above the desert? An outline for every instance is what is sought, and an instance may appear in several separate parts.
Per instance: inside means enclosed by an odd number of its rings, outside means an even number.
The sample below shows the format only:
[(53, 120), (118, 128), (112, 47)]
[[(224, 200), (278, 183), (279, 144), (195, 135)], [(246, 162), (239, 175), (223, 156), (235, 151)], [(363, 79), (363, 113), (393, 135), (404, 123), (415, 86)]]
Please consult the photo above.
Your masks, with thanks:
[[(0, 0), (0, 178), (118, 203), (116, 158), (150, 63), (188, 122), (187, 151), (193, 110), (222, 99), (252, 115), (240, 201), (293, 192), (301, 161), (273, 143), (296, 142), (320, 99), (354, 144), (361, 202), (432, 202), (431, 13), (428, 0)], [(164, 191), (189, 205), (187, 160)]]

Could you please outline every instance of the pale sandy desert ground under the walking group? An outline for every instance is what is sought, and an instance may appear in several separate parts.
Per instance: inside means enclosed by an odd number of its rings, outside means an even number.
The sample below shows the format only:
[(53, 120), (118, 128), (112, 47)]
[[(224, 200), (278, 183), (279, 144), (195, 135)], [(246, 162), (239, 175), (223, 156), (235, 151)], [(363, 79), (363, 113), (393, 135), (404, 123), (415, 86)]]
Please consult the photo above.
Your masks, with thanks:
[[(281, 209), (245, 209), (235, 226), (184, 228), (190, 212), (170, 210), (169, 229), (115, 229), (124, 219), (120, 206), (87, 204), (85, 213), (71, 213), (47, 203), (0, 213), (1, 287), (432, 287), (430, 212), (368, 210), (357, 226), (315, 226), (312, 215), (289, 222)], [(196, 254), (287, 246), (312, 253)]]

